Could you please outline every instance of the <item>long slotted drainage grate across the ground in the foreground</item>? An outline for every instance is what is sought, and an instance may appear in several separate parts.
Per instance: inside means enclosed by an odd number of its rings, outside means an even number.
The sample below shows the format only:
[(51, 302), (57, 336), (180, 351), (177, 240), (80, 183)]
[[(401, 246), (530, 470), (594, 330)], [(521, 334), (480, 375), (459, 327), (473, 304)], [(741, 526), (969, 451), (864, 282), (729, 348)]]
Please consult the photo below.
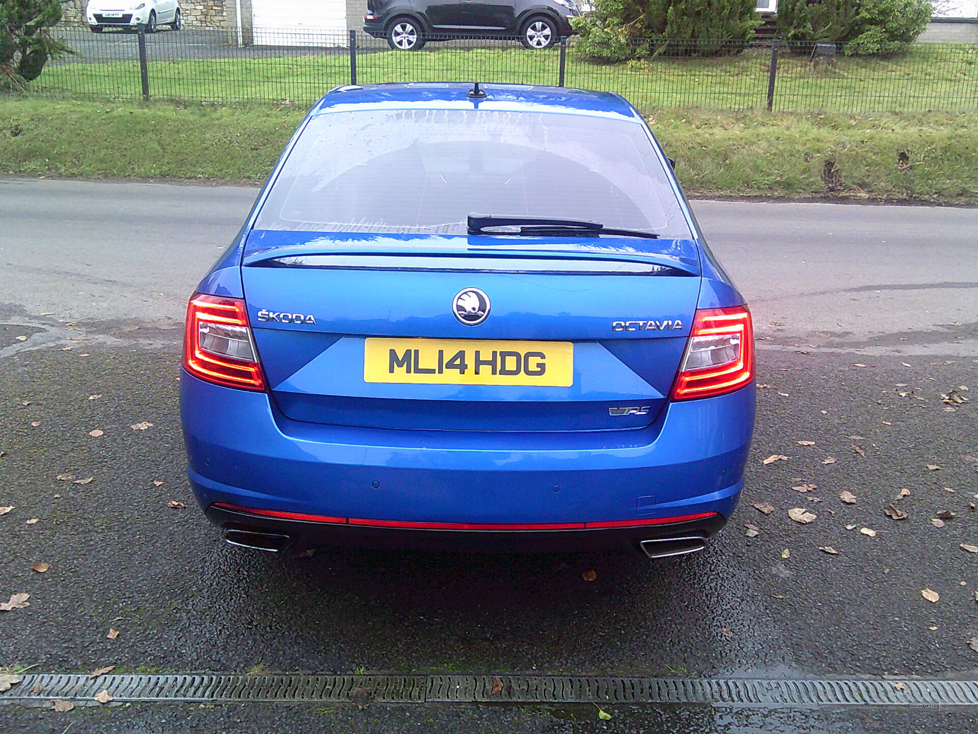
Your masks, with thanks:
[[(500, 688), (501, 686), (501, 688)], [(493, 693), (493, 690), (496, 693)], [(115, 702), (708, 704), (732, 707), (978, 706), (978, 680), (790, 680), (585, 675), (87, 675), (32, 673), (0, 703)]]

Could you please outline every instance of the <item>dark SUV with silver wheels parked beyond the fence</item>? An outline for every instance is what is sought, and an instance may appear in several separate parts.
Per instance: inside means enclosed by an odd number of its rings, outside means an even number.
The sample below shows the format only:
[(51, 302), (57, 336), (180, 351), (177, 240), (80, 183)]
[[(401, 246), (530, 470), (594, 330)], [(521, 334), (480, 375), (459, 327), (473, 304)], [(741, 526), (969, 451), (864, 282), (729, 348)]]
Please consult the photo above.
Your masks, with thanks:
[(364, 30), (392, 49), (417, 51), (427, 41), (518, 35), (526, 48), (550, 48), (573, 31), (574, 0), (367, 0)]

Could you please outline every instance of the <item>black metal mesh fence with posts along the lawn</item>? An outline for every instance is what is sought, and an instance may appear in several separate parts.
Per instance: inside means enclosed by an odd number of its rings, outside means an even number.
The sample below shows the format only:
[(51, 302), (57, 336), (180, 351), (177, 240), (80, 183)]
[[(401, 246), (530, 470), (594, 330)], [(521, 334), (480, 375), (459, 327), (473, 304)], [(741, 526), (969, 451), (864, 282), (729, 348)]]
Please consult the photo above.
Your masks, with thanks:
[[(643, 111), (713, 108), (830, 111), (978, 109), (978, 46), (915, 44), (889, 58), (847, 57), (831, 45), (670, 41), (636, 46), (615, 64), (589, 60), (574, 37), (544, 50), (514, 38), (428, 39), (419, 51), (363, 32), (184, 28), (140, 34), (58, 31), (76, 56), (49, 62), (36, 94), (308, 106), (334, 86), (410, 81), (544, 84), (617, 92)], [(141, 53), (140, 46), (144, 47)], [(694, 52), (708, 55), (693, 55)]]

